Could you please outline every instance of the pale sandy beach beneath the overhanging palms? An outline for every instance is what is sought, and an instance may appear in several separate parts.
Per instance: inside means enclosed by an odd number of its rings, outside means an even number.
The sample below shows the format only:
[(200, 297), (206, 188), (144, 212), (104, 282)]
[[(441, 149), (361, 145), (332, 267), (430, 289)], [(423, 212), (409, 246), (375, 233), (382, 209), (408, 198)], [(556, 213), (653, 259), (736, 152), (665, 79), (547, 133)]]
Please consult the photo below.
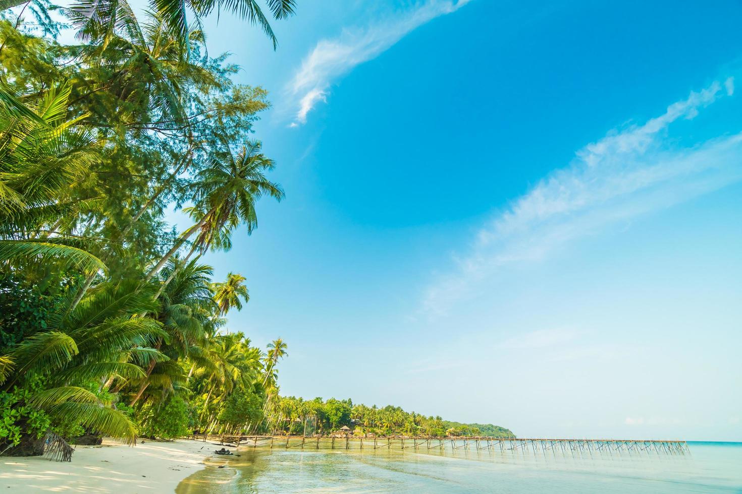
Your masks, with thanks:
[(0, 486), (23, 493), (174, 493), (185, 478), (220, 464), (212, 458), (216, 449), (191, 439), (145, 439), (134, 447), (105, 439), (99, 446), (76, 447), (71, 462), (1, 457)]

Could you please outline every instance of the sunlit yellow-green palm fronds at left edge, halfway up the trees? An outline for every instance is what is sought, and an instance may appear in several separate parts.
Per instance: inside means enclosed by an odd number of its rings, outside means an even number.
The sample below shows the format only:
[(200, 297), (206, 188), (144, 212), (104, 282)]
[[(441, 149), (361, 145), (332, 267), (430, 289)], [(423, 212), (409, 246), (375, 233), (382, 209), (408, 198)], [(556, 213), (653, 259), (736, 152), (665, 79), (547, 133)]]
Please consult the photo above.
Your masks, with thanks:
[(62, 235), (63, 221), (91, 201), (68, 190), (89, 173), (101, 143), (68, 120), (70, 86), (50, 89), (38, 104), (24, 104), (0, 87), (0, 260), (63, 258), (95, 273), (105, 268), (87, 247), (91, 239)]

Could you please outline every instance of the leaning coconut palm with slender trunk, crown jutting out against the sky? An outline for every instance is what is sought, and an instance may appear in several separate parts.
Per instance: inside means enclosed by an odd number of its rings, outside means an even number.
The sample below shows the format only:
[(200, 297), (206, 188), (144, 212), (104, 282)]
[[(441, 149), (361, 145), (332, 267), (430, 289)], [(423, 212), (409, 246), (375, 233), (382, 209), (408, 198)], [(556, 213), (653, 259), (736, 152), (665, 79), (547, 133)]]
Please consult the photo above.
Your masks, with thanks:
[(173, 247), (152, 267), (145, 280), (150, 280), (169, 258), (183, 246), (188, 238), (199, 233), (197, 244), (208, 245), (213, 238), (210, 232), (225, 230), (230, 232), (240, 224), (245, 224), (247, 232), (257, 226), (255, 202), (263, 195), (277, 201), (283, 198), (280, 185), (269, 181), (264, 172), (272, 170), (275, 163), (260, 153), (260, 143), (255, 142), (235, 155), (229, 146), (216, 153), (211, 165), (197, 173), (191, 184), (197, 206), (199, 221), (185, 230)]

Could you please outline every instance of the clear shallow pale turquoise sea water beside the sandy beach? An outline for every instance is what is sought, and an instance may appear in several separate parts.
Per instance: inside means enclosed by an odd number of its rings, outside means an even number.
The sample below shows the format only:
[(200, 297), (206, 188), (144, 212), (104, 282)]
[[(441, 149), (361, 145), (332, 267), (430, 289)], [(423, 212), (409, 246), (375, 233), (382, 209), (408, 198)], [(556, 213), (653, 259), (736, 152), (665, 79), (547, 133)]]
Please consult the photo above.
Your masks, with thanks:
[[(686, 455), (265, 450), (214, 459), (177, 488), (200, 493), (742, 493), (742, 443)], [(222, 466), (223, 468), (219, 468)]]

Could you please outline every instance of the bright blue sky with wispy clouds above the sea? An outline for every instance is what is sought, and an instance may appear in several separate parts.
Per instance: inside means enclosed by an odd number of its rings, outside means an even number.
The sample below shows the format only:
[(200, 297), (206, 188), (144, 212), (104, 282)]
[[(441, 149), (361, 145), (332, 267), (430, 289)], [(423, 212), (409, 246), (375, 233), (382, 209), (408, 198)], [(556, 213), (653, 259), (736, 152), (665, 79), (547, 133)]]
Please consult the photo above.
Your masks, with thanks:
[[(597, 3), (600, 3), (598, 5)], [(319, 1), (206, 22), (280, 204), (209, 254), (282, 393), (742, 440), (742, 6)]]

